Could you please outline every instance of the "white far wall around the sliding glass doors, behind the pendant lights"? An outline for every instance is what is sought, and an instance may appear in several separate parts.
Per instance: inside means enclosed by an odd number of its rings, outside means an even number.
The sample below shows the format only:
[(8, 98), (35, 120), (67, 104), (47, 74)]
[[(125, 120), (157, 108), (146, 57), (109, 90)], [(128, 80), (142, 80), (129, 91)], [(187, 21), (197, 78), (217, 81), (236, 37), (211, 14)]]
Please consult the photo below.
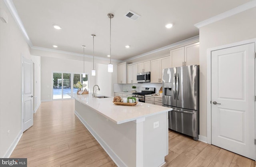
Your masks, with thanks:
[[(105, 64), (94, 64), (96, 76), (91, 76), (93, 68), (92, 62), (85, 62), (85, 72), (89, 73), (89, 92), (92, 93), (93, 86), (98, 84), (100, 86), (100, 94), (112, 95), (113, 83), (117, 82), (116, 78), (116, 64), (114, 64), (114, 72), (108, 73), (108, 61), (100, 60)], [(68, 60), (53, 57), (41, 57), (41, 100), (52, 100), (52, 72), (67, 72), (80, 74), (83, 72), (83, 61)], [(114, 76), (114, 77), (111, 77)]]

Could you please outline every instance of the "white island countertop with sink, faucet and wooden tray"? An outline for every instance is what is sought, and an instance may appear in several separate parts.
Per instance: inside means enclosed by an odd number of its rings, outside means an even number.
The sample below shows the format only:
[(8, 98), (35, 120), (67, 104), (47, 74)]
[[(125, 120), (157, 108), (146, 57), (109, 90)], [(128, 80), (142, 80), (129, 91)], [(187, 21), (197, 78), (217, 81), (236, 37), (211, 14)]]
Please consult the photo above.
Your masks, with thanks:
[[(86, 95), (71, 95), (74, 99), (94, 109), (116, 124), (134, 121), (136, 119), (171, 111), (172, 108), (138, 102), (137, 105), (115, 105), (113, 97), (93, 98), (92, 93)], [(99, 95), (98, 95), (99, 96)]]

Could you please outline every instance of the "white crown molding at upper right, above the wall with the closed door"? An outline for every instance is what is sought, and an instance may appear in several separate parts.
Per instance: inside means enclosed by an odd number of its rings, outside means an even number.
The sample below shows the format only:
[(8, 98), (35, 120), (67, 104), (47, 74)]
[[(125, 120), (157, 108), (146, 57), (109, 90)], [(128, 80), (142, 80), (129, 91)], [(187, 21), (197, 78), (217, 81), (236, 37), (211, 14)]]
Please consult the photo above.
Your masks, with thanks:
[(228, 11), (226, 11), (224, 13), (218, 14), (218, 15), (213, 16), (213, 17), (211, 17), (211, 18), (209, 18), (207, 20), (199, 22), (199, 23), (195, 24), (194, 26), (196, 26), (197, 28), (201, 28), (203, 26), (206, 26), (208, 24), (217, 22), (217, 21), (222, 20), (224, 18), (228, 18), (230, 16), (233, 16), (233, 15), (238, 14), (240, 12), (243, 12), (245, 10), (254, 8), (255, 6), (256, 6), (256, 0), (252, 0), (252, 1), (247, 2), (245, 4), (242, 4), (242, 5), (240, 5), (240, 6), (236, 7), (236, 8), (228, 10)]

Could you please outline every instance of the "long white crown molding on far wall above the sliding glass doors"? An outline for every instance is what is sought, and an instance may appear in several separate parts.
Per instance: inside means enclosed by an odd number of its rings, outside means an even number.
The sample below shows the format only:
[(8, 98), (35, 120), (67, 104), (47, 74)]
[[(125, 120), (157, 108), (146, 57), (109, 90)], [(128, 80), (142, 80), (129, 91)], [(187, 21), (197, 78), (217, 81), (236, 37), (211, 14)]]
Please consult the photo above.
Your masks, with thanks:
[[(42, 50), (42, 51), (46, 51), (46, 52), (60, 53), (60, 54), (69, 54), (69, 55), (74, 55), (74, 56), (85, 56), (87, 58), (93, 58), (93, 56), (88, 55), (88, 54), (84, 55), (84, 54), (78, 54), (78, 53), (74, 53), (74, 52), (66, 52), (66, 51), (62, 51), (62, 50), (41, 48), (41, 47), (37, 47), (37, 46), (32, 46), (31, 49)], [(99, 56), (94, 56), (94, 58), (99, 59), (99, 60), (109, 60), (109, 58), (102, 58), (102, 57), (99, 57)], [(116, 59), (111, 59), (111, 61), (113, 61), (113, 62), (122, 62), (121, 60), (116, 60)]]

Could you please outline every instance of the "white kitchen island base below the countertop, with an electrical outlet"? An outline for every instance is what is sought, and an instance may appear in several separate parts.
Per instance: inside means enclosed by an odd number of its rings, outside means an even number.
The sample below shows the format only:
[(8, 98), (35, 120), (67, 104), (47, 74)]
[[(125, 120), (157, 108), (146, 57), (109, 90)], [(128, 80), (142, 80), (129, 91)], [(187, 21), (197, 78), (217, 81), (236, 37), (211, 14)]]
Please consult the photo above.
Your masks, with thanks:
[[(137, 123), (116, 124), (77, 100), (75, 112), (116, 165), (158, 167), (164, 164), (168, 154), (167, 113), (145, 117)], [(158, 122), (156, 128), (155, 122)]]

